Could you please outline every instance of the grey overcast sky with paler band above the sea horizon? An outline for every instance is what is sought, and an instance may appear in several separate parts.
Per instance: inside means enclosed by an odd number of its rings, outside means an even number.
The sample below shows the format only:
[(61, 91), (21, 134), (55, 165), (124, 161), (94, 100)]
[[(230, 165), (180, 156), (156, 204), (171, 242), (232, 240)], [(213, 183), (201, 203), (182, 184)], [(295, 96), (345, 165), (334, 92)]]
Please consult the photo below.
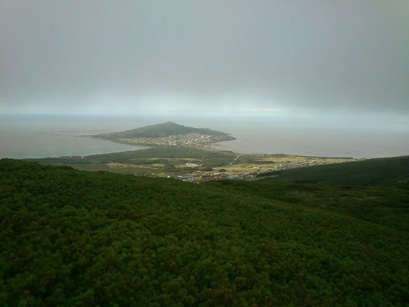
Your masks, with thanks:
[(0, 113), (409, 114), (409, 1), (0, 1)]

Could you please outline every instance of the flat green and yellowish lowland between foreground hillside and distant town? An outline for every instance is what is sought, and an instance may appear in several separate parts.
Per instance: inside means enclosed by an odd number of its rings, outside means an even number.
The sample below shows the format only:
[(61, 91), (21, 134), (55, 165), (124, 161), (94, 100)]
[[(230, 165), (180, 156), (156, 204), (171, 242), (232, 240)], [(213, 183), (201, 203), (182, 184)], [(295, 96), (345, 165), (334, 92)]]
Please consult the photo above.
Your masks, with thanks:
[[(303, 157), (284, 154), (241, 154), (182, 145), (170, 147), (157, 145), (137, 151), (33, 160), (41, 164), (70, 165), (81, 170), (167, 177), (191, 173), (211, 176), (218, 172), (227, 175), (258, 174), (272, 170), (348, 162), (356, 159)], [(186, 163), (194, 165), (186, 165)]]

